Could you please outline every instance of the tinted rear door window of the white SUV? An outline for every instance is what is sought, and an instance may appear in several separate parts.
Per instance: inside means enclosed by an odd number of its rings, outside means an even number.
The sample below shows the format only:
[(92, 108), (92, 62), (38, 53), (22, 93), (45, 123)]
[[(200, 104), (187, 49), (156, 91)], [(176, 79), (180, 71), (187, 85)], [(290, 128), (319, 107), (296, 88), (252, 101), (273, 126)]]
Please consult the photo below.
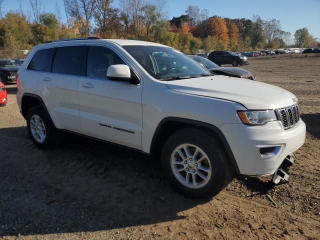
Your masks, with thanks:
[(62, 46), (56, 49), (52, 72), (81, 75), (83, 46)]

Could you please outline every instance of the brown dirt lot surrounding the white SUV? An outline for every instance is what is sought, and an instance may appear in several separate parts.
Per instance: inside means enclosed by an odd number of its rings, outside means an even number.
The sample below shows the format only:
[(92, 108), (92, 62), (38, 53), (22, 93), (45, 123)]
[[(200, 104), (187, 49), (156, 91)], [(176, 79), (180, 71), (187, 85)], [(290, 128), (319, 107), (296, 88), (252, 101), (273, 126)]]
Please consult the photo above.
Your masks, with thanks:
[(320, 55), (249, 63), (257, 80), (297, 96), (307, 125), (288, 184), (236, 176), (213, 199), (192, 200), (134, 151), (75, 136), (39, 150), (9, 85), (0, 108), (0, 239), (320, 239)]

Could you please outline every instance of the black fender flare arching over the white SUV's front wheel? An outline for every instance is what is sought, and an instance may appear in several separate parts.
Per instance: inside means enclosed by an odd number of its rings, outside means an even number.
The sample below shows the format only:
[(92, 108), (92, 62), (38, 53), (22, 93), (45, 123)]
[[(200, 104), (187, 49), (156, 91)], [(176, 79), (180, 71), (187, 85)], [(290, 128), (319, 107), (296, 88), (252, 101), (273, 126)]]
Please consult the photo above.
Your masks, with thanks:
[(182, 118), (182, 117), (172, 117), (172, 116), (163, 118), (159, 122), (159, 124), (157, 125), (157, 127), (156, 127), (156, 129), (155, 129), (155, 131), (153, 133), (152, 140), (151, 140), (151, 147), (150, 147), (150, 153), (151, 154), (154, 151), (156, 137), (159, 134), (159, 131), (160, 131), (161, 127), (163, 126), (164, 123), (166, 123), (168, 121), (187, 123), (187, 124), (192, 124), (192, 125), (195, 125), (195, 126), (205, 127), (205, 128), (209, 128), (209, 129), (213, 130), (216, 133), (216, 135), (219, 137), (222, 145), (224, 146), (224, 149), (225, 149), (225, 151), (226, 151), (226, 153), (227, 153), (227, 155), (228, 155), (228, 157), (229, 157), (229, 159), (231, 161), (231, 164), (232, 164), (234, 172), (235, 173), (240, 173), (240, 170), (239, 170), (238, 164), (236, 163), (236, 160), (234, 158), (233, 152), (232, 152), (232, 150), (230, 148), (230, 145), (229, 145), (228, 141), (226, 140), (224, 134), (222, 133), (222, 131), (217, 126), (212, 125), (212, 124), (207, 123), (207, 122), (203, 122), (203, 121), (187, 119), (187, 118)]

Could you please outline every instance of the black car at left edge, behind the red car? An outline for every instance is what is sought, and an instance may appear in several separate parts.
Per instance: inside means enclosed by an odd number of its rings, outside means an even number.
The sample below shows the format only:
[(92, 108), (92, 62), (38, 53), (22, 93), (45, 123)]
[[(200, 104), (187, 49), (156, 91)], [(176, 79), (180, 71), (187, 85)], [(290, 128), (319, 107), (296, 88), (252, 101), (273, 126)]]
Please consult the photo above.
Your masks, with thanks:
[(16, 72), (19, 66), (14, 60), (0, 59), (0, 81), (5, 85), (7, 82), (15, 82)]

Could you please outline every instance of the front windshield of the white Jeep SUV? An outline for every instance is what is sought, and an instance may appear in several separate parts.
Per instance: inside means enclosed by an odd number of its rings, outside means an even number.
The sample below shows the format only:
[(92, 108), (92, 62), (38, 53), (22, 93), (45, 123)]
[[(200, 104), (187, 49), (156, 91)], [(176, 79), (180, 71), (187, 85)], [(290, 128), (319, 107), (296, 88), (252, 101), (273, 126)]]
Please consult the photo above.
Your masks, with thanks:
[(123, 48), (151, 76), (159, 80), (212, 75), (190, 57), (171, 47), (132, 45)]

